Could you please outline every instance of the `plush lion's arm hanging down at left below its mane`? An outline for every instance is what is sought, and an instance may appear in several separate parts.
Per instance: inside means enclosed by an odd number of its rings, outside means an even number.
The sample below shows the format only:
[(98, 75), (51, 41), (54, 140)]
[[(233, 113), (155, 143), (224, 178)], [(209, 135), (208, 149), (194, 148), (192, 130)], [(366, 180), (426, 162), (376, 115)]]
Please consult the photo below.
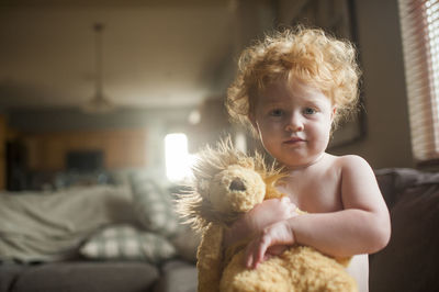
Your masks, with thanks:
[(199, 292), (218, 291), (223, 272), (223, 227), (211, 223), (198, 249)]

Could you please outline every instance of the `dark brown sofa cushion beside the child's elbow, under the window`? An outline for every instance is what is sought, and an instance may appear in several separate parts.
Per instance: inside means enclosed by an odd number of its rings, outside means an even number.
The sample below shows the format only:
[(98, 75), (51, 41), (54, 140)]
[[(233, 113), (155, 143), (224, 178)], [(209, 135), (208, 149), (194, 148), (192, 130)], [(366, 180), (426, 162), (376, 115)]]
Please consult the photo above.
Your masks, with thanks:
[(439, 183), (410, 178), (393, 193), (387, 247), (370, 257), (370, 291), (439, 291)]

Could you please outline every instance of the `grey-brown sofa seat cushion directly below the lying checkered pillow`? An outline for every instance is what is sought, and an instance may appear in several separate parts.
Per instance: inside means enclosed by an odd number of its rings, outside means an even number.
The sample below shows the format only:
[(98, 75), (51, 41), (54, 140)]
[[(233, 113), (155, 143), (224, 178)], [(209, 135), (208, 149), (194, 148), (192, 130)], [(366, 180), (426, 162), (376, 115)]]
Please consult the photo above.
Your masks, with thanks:
[(11, 292), (137, 292), (158, 278), (147, 262), (45, 263), (25, 269)]

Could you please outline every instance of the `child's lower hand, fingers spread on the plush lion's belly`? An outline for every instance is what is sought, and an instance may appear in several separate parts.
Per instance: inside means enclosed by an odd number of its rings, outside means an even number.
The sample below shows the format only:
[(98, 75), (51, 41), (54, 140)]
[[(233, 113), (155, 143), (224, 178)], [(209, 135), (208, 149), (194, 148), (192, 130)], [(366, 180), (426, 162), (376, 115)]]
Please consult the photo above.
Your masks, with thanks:
[(245, 251), (245, 265), (247, 268), (257, 268), (260, 262), (282, 254), (286, 246), (295, 242), (294, 233), (286, 220), (277, 222), (266, 228), (254, 238)]

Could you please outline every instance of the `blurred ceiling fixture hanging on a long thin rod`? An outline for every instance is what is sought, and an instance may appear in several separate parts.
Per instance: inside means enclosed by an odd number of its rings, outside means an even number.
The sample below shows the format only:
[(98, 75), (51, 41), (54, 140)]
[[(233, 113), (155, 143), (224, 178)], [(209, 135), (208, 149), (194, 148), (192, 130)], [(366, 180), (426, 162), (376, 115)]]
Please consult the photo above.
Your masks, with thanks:
[(114, 103), (103, 94), (102, 90), (102, 31), (104, 25), (95, 23), (93, 30), (95, 33), (95, 91), (94, 96), (82, 105), (87, 113), (108, 113), (114, 110)]

